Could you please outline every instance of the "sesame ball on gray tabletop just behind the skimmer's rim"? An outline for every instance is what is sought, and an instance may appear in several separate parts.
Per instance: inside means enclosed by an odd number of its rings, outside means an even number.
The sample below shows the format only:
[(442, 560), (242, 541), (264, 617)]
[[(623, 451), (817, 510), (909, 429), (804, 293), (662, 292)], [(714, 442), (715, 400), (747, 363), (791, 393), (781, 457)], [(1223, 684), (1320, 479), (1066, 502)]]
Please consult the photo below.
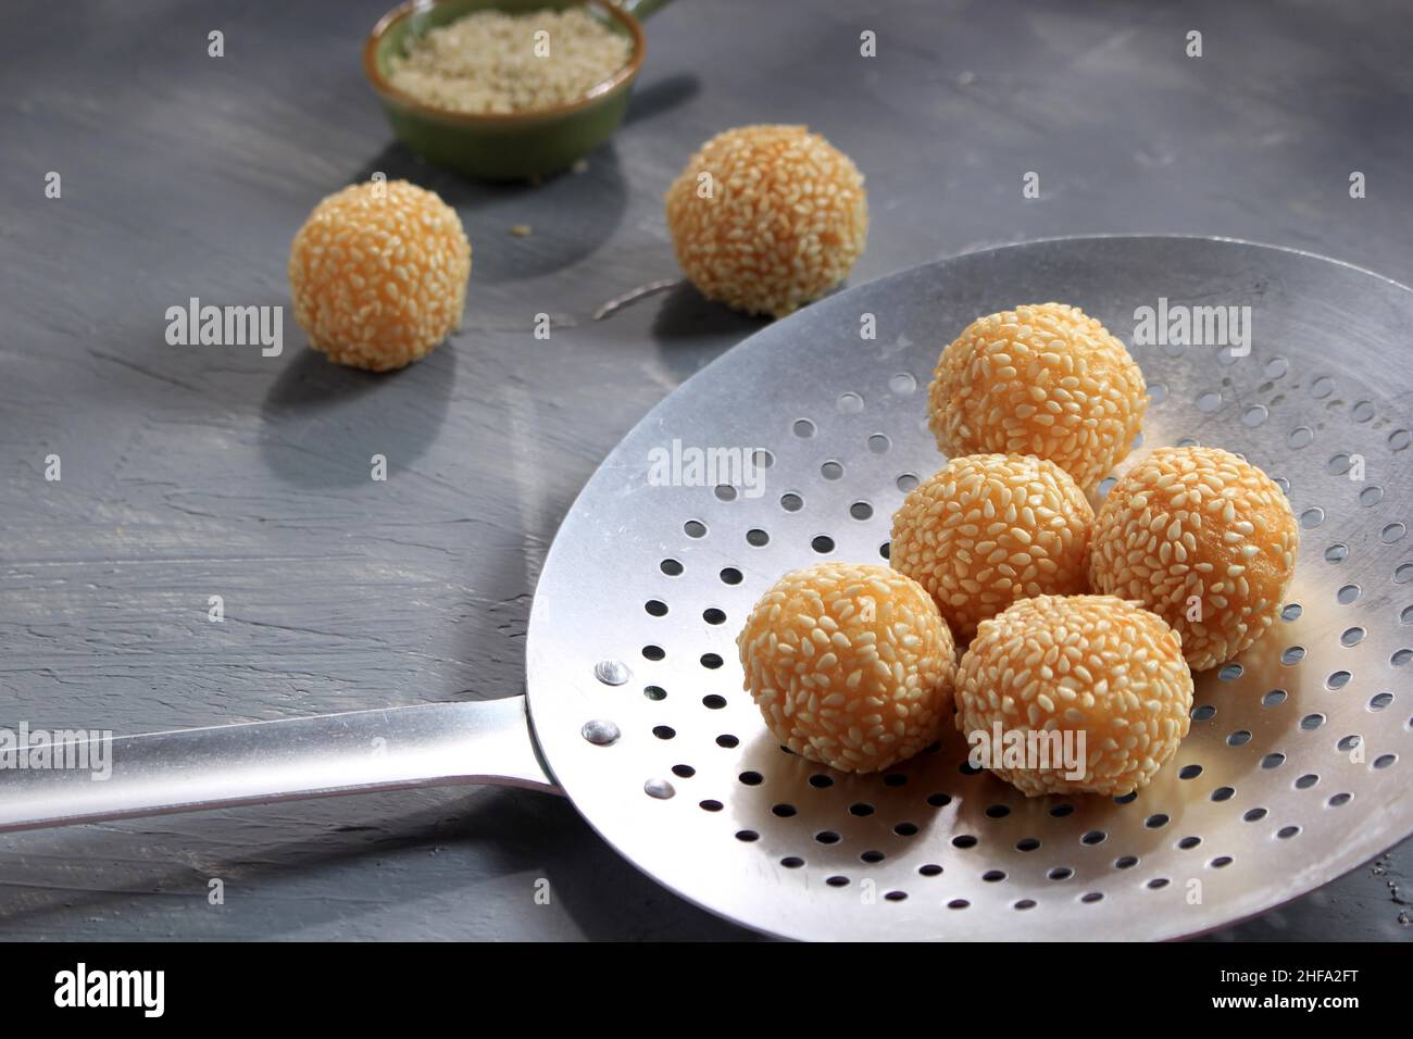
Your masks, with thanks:
[(702, 295), (784, 317), (842, 281), (863, 252), (863, 175), (804, 126), (742, 126), (687, 161), (667, 189), (667, 228)]

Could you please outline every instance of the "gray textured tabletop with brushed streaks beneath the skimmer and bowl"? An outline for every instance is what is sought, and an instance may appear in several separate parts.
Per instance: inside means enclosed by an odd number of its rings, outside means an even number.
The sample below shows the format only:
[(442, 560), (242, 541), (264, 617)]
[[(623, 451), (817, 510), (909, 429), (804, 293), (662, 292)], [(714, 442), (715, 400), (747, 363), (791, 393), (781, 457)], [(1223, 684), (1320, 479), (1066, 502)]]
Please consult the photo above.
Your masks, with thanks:
[[(873, 10), (879, 8), (879, 10)], [(731, 124), (808, 122), (869, 178), (853, 283), (1063, 233), (1222, 233), (1413, 281), (1396, 3), (678, 0), (588, 172), (482, 188), (390, 144), (377, 3), (32, 4), (0, 41), (0, 724), (133, 732), (519, 691), (530, 594), (584, 479), (757, 322), (673, 277), (660, 195)], [(226, 57), (206, 57), (206, 33)], [(858, 33), (879, 57), (856, 57)], [(1205, 57), (1183, 57), (1188, 28)], [(62, 45), (55, 41), (64, 40)], [(64, 198), (44, 198), (59, 171)], [(382, 170), (476, 249), (463, 328), (377, 379), (164, 342), (188, 297), (285, 304), (288, 239)], [(1020, 180), (1039, 171), (1039, 201)], [(1369, 196), (1348, 196), (1348, 175)], [(516, 223), (530, 237), (507, 235)], [(555, 318), (551, 339), (530, 334)], [(64, 459), (47, 483), (42, 459)], [(386, 454), (387, 483), (367, 479)], [(227, 621), (206, 621), (225, 597)], [(1407, 937), (1407, 847), (1224, 937)], [(209, 878), (226, 905), (206, 903)], [(552, 885), (534, 900), (536, 879)], [(738, 937), (564, 802), (386, 796), (0, 841), (0, 934)]]

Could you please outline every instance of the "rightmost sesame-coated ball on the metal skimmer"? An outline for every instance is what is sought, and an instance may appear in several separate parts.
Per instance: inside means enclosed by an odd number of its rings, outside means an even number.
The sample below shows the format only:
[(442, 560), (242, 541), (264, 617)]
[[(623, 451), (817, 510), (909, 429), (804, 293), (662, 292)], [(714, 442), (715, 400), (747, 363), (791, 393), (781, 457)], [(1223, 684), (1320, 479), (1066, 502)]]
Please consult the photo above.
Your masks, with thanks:
[(1099, 506), (1089, 581), (1167, 621), (1201, 671), (1270, 626), (1299, 546), (1286, 495), (1255, 465), (1219, 448), (1160, 448)]

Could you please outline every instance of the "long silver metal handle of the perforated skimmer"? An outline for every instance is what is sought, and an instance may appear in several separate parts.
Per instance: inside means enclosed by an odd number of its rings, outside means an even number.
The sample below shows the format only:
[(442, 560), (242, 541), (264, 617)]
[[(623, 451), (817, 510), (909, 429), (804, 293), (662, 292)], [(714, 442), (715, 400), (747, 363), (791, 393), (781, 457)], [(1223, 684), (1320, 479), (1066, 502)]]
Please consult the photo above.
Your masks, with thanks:
[(445, 783), (558, 792), (524, 697), (113, 739), (112, 775), (0, 770), (0, 831)]

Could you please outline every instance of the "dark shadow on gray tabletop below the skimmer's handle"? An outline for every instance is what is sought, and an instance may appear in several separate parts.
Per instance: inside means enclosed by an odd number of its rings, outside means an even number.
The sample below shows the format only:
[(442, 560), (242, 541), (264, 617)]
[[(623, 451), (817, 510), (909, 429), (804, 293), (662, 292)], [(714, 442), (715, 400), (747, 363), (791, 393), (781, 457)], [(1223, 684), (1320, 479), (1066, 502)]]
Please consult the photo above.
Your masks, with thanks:
[[(297, 820), (311, 837), (264, 840), (276, 833), (273, 821)], [(226, 854), (191, 861), (182, 848), (198, 835), (218, 841)], [(13, 876), (0, 884), (0, 933), (27, 937), (86, 920), (89, 939), (151, 939), (161, 936), (151, 923), (177, 913), (205, 939), (366, 940), (382, 934), (380, 913), (390, 912), (403, 923), (415, 920), (421, 937), (434, 940), (562, 936), (564, 916), (591, 940), (753, 937), (637, 872), (568, 800), (530, 790), (444, 790), (203, 813), (126, 823), (103, 840), (114, 857), (146, 859), (143, 875), (114, 888), (103, 864), (90, 859), (72, 862), (54, 886)], [(383, 895), (336, 893), (346, 891), (349, 875), (369, 867), (376, 867)], [(208, 903), (211, 878), (223, 881), (225, 905)], [(541, 879), (550, 882), (548, 905), (536, 900)], [(603, 898), (606, 891), (612, 899)], [(287, 912), (291, 900), (301, 905), (297, 917)], [(540, 913), (543, 923), (534, 923)]]

